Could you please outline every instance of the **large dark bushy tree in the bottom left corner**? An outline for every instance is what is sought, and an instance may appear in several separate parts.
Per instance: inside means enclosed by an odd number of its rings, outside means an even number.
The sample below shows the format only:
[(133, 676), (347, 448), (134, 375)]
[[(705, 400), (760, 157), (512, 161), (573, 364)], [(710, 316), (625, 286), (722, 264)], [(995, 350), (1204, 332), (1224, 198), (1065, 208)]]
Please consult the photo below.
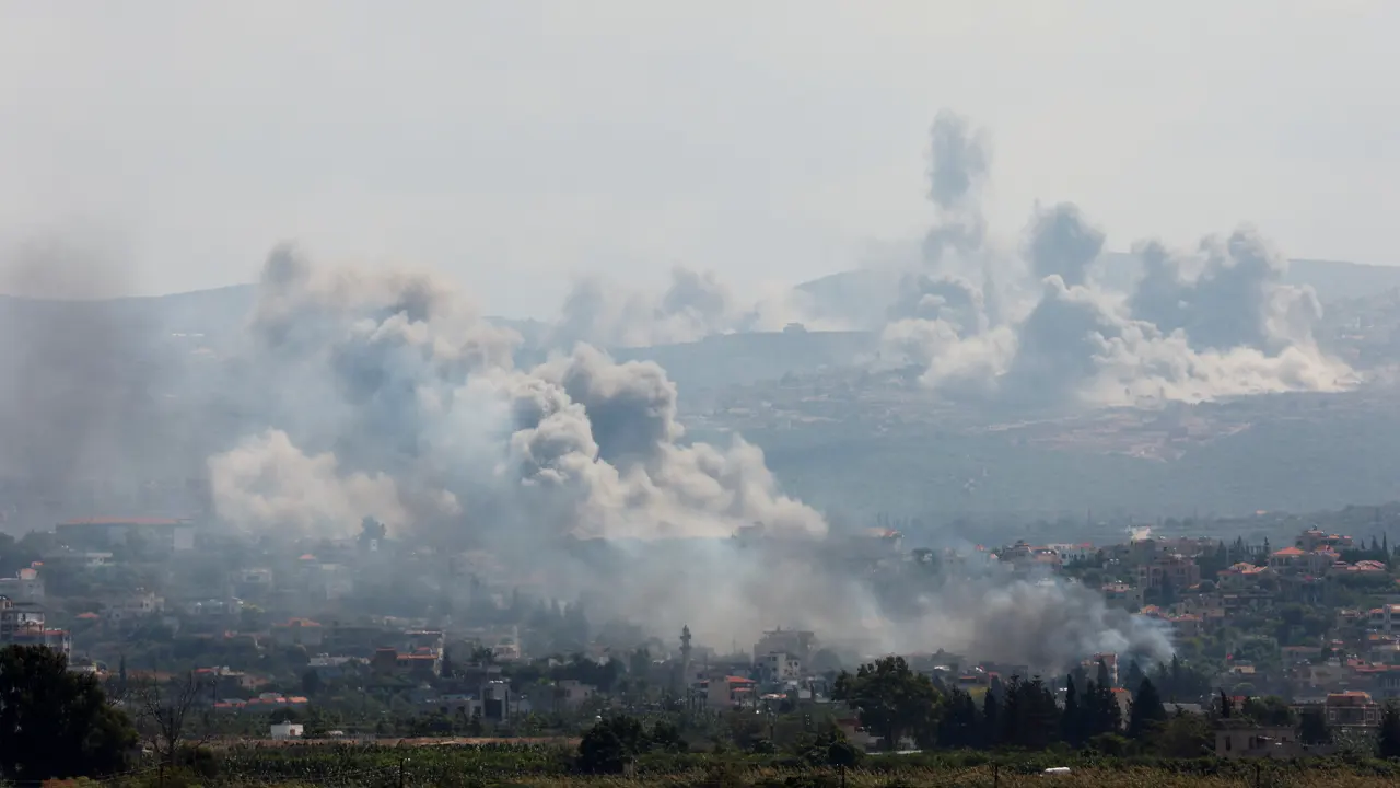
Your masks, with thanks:
[(42, 646), (0, 649), (0, 777), (38, 782), (126, 768), (136, 731), (92, 676)]

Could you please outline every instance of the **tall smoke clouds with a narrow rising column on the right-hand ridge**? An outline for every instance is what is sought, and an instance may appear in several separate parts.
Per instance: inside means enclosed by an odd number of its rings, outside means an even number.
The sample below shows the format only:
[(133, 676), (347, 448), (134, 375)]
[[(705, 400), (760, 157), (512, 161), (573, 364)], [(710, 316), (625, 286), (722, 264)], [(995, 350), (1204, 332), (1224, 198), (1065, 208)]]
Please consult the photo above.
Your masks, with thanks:
[(930, 387), (1064, 405), (1352, 383), (1317, 346), (1316, 294), (1284, 285), (1285, 259), (1252, 229), (1190, 252), (1142, 241), (1144, 275), (1116, 292), (1095, 278), (1105, 233), (1072, 203), (1037, 208), (1018, 259), (987, 243), (976, 203), (988, 171), (983, 132), (939, 114), (932, 160), (923, 271), (906, 275), (883, 334)]

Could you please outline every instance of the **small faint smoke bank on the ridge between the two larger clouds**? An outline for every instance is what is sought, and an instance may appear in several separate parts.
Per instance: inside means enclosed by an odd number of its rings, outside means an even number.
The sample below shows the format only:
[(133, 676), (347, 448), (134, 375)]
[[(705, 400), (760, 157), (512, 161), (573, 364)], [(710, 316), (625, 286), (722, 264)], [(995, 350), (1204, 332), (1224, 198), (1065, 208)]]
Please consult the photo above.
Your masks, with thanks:
[(714, 272), (679, 266), (661, 293), (596, 275), (581, 276), (564, 300), (549, 342), (556, 348), (574, 342), (640, 348), (694, 342), (714, 334), (778, 331), (790, 322), (813, 322), (802, 297), (783, 293), (741, 301)]

